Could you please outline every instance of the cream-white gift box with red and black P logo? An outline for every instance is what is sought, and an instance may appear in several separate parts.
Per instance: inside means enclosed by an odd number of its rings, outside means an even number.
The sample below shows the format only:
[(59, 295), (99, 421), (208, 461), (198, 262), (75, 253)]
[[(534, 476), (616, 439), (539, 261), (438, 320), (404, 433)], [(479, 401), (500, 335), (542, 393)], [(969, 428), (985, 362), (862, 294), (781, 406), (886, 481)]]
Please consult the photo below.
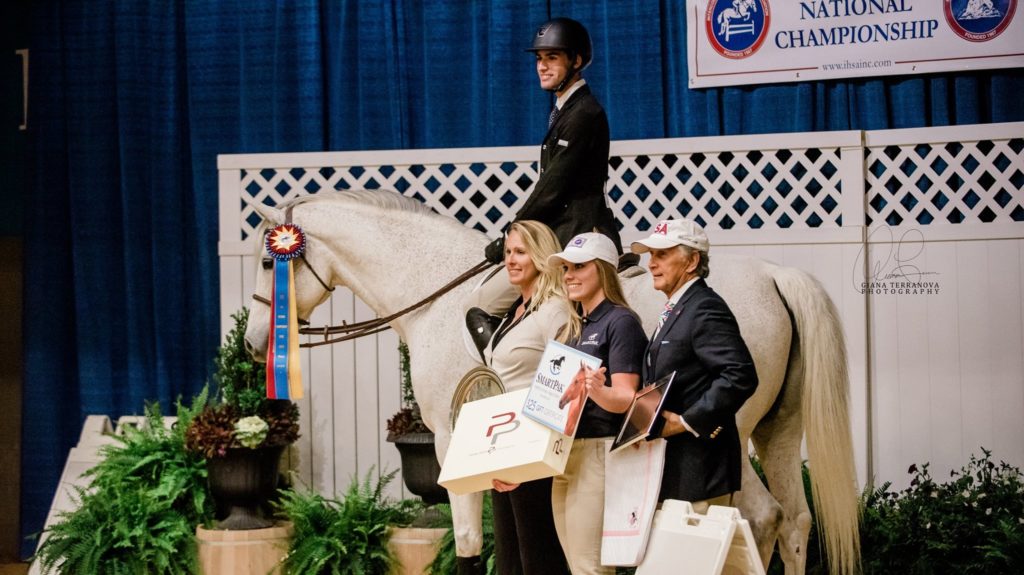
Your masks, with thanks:
[(456, 494), (561, 475), (572, 439), (522, 415), (529, 389), (466, 403), (437, 483)]

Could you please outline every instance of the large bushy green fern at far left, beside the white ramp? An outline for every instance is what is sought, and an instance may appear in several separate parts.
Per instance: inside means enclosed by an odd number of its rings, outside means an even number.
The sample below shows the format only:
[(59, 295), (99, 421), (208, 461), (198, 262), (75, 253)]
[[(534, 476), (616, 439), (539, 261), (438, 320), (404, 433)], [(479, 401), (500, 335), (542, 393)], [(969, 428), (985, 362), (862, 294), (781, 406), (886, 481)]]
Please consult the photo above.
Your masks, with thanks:
[(206, 399), (204, 390), (193, 407), (178, 402), (172, 430), (151, 404), (145, 426), (100, 448), (78, 508), (59, 516), (36, 552), (45, 573), (198, 572), (195, 530), (212, 521), (213, 505), (206, 462), (184, 448), (184, 430)]

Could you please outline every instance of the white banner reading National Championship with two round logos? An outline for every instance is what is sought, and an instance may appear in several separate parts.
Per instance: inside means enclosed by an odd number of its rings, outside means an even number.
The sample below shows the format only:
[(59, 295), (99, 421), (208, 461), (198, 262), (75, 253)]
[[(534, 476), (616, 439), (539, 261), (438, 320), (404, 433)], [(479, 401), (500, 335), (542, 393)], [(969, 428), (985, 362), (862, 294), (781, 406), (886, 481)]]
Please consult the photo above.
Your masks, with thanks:
[(689, 87), (1024, 67), (1018, 0), (687, 0)]

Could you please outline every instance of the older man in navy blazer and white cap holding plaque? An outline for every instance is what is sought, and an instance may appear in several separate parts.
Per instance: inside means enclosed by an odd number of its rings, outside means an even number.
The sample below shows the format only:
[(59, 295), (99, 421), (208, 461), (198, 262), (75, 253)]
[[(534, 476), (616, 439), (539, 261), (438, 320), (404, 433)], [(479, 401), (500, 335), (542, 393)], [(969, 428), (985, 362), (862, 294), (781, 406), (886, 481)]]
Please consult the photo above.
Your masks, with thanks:
[(735, 316), (705, 281), (708, 235), (693, 221), (665, 220), (631, 248), (650, 254), (654, 289), (669, 298), (643, 370), (646, 383), (676, 372), (662, 412), (668, 448), (659, 499), (690, 501), (701, 513), (731, 504), (745, 454), (736, 411), (758, 375)]

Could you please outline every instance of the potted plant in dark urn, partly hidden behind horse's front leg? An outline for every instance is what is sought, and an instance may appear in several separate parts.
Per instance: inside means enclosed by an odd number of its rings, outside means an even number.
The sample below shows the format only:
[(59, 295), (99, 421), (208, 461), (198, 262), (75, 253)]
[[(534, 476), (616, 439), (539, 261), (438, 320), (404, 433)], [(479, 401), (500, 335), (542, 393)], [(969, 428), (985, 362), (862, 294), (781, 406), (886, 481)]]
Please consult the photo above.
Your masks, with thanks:
[(447, 502), (447, 490), (437, 485), (441, 467), (434, 451), (434, 433), (423, 423), (420, 405), (413, 394), (409, 371), (409, 346), (399, 342), (401, 409), (387, 421), (387, 440), (401, 456), (401, 477), (406, 487), (427, 504)]

